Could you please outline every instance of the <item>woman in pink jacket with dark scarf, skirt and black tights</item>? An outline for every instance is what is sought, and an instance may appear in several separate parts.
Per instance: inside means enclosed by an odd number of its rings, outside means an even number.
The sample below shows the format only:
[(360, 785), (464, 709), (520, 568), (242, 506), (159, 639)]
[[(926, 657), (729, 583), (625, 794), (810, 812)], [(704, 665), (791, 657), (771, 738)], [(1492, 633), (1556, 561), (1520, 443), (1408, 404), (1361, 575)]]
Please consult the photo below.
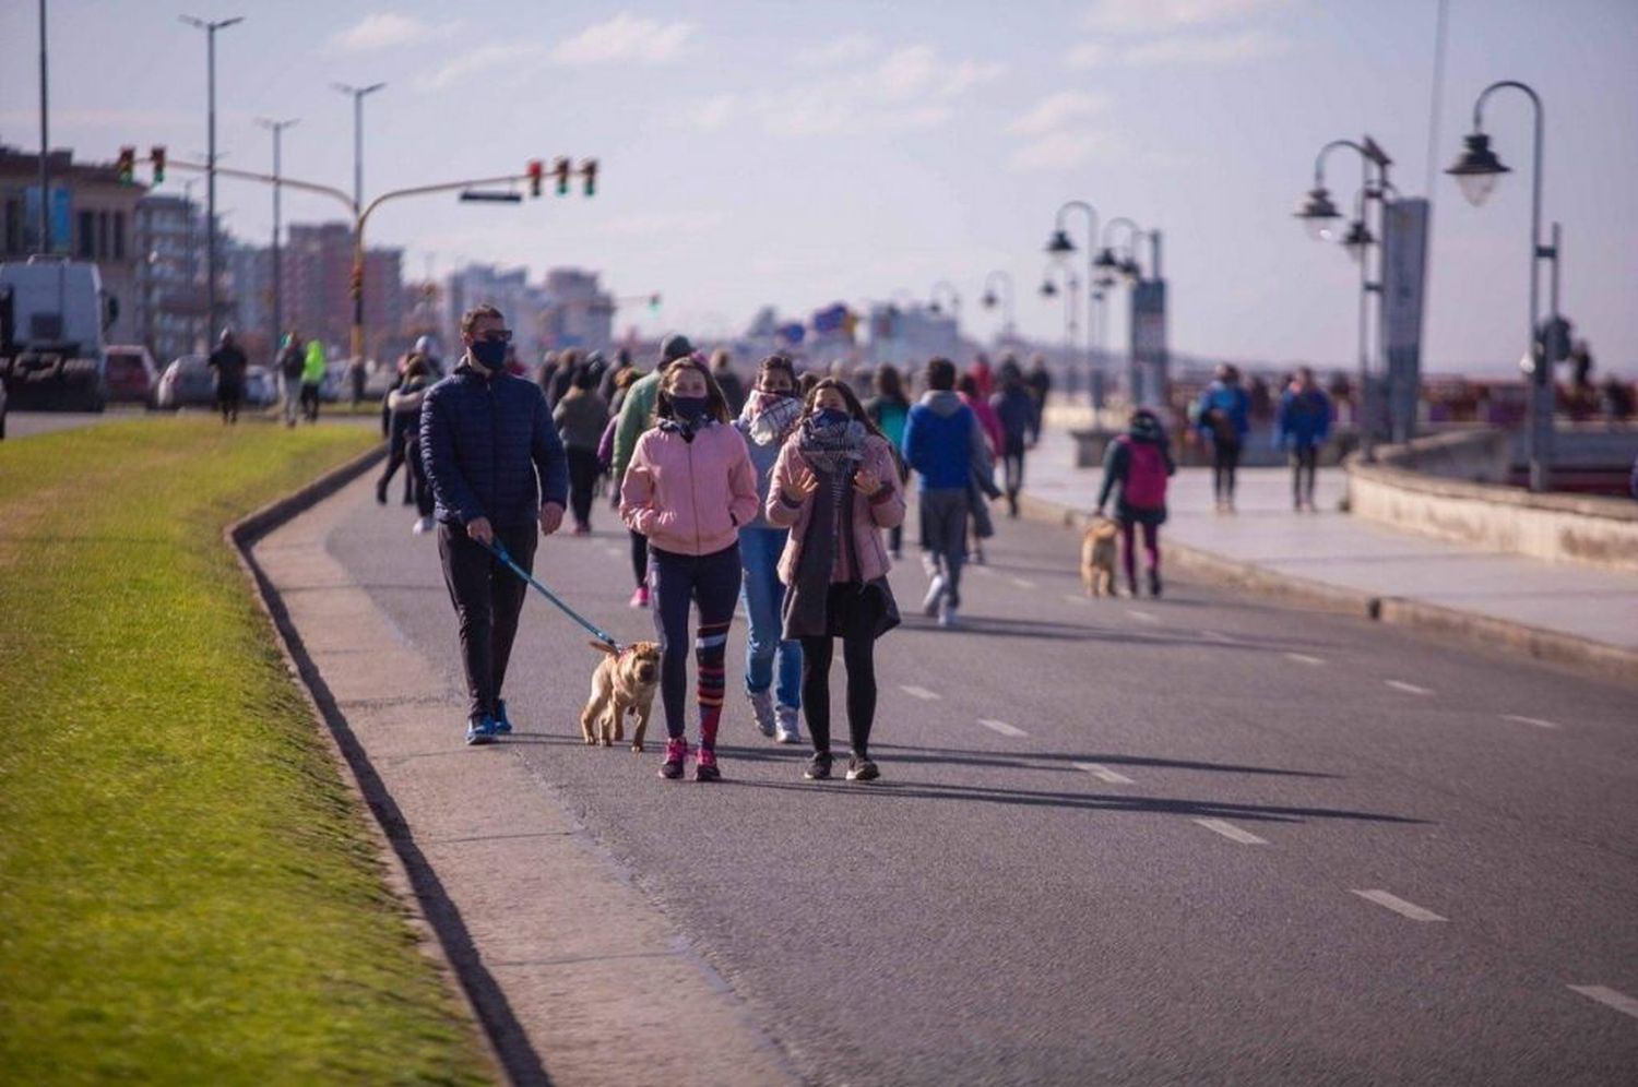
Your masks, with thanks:
[(893, 447), (842, 381), (826, 378), (808, 395), (801, 422), (773, 465), (765, 514), (770, 524), (791, 529), (780, 580), (786, 584), (785, 637), (803, 642), (803, 714), (814, 742), (803, 776), (830, 776), (830, 656), (842, 638), (853, 746), (847, 779), (875, 781), (875, 643), (899, 624), (881, 529), (904, 521), (904, 489)]

